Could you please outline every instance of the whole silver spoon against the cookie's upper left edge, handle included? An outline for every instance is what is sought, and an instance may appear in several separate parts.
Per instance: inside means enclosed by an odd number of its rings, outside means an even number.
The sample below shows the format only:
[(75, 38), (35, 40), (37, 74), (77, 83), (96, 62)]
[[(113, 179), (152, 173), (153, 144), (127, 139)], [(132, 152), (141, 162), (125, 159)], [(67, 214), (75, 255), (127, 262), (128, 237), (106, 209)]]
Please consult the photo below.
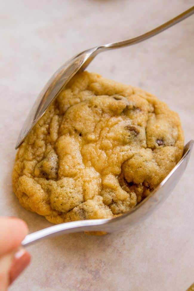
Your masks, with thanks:
[(24, 141), (24, 138), (27, 136), (33, 126), (39, 121), (41, 116), (43, 116), (48, 106), (58, 96), (64, 86), (78, 72), (78, 70), (84, 70), (98, 53), (119, 47), (129, 46), (149, 39), (150, 37), (182, 21), (193, 13), (194, 6), (179, 14), (175, 18), (167, 21), (166, 23), (154, 28), (153, 30), (150, 30), (147, 33), (134, 37), (133, 39), (127, 39), (125, 41), (119, 41), (115, 43), (100, 45), (98, 47), (93, 47), (89, 50), (85, 50), (84, 52), (67, 61), (64, 65), (62, 65), (62, 67), (60, 67), (56, 71), (56, 73), (54, 73), (54, 75), (50, 78), (43, 90), (40, 92), (21, 129), (16, 143), (16, 149)]

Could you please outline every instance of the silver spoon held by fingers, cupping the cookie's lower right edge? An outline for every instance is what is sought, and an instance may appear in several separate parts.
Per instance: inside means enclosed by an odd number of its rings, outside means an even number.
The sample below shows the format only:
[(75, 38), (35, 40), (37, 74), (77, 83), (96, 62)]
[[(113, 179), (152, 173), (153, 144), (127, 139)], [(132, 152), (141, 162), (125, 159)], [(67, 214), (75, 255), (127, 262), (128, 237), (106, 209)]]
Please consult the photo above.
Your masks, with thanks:
[(53, 225), (28, 234), (22, 241), (22, 246), (27, 246), (42, 238), (65, 233), (77, 233), (80, 231), (105, 231), (111, 233), (121, 231), (141, 222), (156, 210), (173, 191), (187, 167), (193, 143), (194, 141), (191, 140), (184, 146), (184, 154), (178, 164), (176, 164), (158, 187), (131, 211), (113, 219), (90, 219)]

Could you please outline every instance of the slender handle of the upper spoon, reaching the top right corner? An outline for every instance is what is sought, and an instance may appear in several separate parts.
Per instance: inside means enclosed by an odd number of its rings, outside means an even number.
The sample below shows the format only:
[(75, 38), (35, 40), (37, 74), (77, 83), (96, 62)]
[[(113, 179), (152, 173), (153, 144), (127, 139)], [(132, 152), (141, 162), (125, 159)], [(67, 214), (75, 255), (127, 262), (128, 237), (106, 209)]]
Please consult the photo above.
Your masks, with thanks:
[(136, 36), (133, 39), (127, 39), (124, 41), (118, 41), (110, 44), (104, 44), (100, 48), (101, 49), (114, 49), (119, 47), (125, 47), (132, 44), (137, 44), (138, 42), (144, 41), (146, 39), (149, 39), (152, 36), (155, 36), (158, 33), (161, 33), (162, 31), (166, 30), (167, 28), (175, 25), (176, 23), (184, 20), (185, 18), (191, 16), (194, 13), (194, 6), (190, 9), (184, 11), (183, 13), (179, 14), (175, 18), (165, 22), (164, 24), (161, 24), (160, 26), (154, 28), (153, 30), (150, 30), (144, 34), (141, 34), (140, 36)]

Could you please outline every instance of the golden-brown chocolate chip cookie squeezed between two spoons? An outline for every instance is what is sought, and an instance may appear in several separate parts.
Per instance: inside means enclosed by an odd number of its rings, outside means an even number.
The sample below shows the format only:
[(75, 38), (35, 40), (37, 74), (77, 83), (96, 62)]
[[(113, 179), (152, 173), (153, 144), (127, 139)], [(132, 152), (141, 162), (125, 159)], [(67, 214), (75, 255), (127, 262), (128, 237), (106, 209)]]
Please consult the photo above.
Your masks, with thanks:
[(136, 206), (180, 160), (178, 114), (141, 89), (82, 72), (19, 147), (13, 190), (52, 223)]

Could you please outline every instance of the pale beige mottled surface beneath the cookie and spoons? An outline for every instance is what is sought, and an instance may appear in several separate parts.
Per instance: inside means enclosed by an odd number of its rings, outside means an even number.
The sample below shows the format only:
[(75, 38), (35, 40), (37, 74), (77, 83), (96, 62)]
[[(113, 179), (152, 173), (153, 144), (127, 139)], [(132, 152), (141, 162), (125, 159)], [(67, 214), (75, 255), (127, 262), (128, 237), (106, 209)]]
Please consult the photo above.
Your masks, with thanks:
[[(50, 226), (24, 210), (11, 173), (19, 130), (53, 72), (87, 48), (144, 33), (193, 0), (0, 1), (0, 215), (23, 218), (30, 232)], [(88, 70), (139, 86), (180, 115), (194, 138), (194, 16), (153, 39), (99, 55)], [(41, 241), (10, 290), (184, 291), (194, 280), (194, 151), (178, 186), (146, 221), (102, 237), (83, 233)]]

